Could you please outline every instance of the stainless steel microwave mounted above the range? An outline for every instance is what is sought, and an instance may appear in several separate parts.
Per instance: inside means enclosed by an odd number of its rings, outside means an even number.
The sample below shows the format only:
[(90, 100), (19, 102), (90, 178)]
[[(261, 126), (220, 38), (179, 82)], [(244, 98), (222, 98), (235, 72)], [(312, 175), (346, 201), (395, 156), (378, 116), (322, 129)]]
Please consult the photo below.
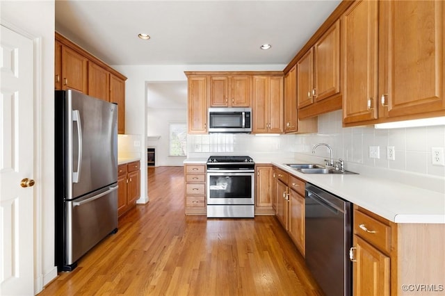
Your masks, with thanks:
[(209, 133), (250, 133), (252, 108), (209, 108)]

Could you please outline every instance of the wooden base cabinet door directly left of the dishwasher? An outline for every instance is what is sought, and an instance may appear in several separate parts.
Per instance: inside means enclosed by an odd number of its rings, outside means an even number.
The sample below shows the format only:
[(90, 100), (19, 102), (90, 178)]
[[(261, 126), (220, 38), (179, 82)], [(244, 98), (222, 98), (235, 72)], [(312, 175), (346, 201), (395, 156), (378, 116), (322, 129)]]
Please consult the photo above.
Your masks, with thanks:
[(289, 235), (305, 256), (305, 197), (289, 190)]

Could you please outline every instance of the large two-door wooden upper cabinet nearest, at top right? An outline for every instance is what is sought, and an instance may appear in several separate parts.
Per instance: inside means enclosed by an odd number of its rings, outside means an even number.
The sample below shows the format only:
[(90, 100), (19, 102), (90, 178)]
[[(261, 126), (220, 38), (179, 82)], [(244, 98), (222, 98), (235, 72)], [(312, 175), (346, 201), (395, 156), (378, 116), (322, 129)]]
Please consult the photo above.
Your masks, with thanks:
[(345, 126), (445, 115), (442, 1), (357, 1), (341, 24)]

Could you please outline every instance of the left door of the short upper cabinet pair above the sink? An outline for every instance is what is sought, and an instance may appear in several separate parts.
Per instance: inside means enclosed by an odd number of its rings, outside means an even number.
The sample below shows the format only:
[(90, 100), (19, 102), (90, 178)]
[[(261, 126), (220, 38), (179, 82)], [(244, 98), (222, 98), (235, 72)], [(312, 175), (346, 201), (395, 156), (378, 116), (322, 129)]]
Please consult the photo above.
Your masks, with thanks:
[(312, 104), (314, 85), (314, 47), (297, 62), (297, 102), (298, 108)]

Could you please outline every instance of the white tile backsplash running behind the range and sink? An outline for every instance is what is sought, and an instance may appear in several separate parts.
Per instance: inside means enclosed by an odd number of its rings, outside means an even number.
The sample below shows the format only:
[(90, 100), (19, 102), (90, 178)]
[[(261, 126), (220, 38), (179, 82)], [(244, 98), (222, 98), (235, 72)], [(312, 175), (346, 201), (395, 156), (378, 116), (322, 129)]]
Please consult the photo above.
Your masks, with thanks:
[[(312, 155), (312, 147), (325, 142), (334, 158), (388, 170), (401, 170), (431, 176), (445, 176), (445, 167), (432, 165), (432, 147), (445, 147), (445, 126), (405, 129), (374, 129), (373, 126), (343, 128), (341, 110), (318, 117), (318, 133), (304, 135), (248, 135), (215, 133), (188, 135), (188, 157), (210, 154)], [(380, 158), (369, 157), (369, 147), (380, 149)], [(387, 147), (394, 146), (395, 160), (387, 160)], [(328, 157), (325, 147), (316, 156)]]

